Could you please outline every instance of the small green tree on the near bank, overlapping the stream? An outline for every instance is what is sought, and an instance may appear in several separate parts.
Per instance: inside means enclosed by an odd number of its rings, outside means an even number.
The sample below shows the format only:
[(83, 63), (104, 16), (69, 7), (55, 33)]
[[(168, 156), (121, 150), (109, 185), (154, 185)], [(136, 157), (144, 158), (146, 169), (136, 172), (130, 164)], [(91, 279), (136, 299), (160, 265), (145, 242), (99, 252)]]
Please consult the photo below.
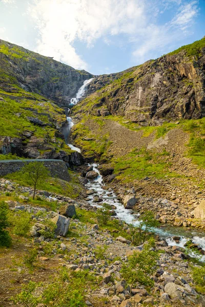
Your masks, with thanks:
[(131, 227), (132, 232), (132, 244), (133, 245), (141, 245), (145, 243), (147, 239), (148, 232), (152, 227), (159, 226), (159, 222), (155, 220), (154, 214), (152, 211), (146, 211), (141, 216), (141, 221), (138, 227)]

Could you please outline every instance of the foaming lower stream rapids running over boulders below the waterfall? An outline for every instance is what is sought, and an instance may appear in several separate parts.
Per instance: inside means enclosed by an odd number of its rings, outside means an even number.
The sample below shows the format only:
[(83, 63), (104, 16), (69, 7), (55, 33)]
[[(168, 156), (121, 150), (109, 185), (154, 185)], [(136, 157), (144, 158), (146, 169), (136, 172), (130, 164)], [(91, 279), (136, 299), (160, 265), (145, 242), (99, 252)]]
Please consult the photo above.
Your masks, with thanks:
[[(91, 164), (90, 166), (93, 166), (93, 170), (98, 173), (98, 177), (93, 180), (90, 180), (87, 183), (87, 187), (94, 191), (94, 194), (88, 196), (88, 202), (92, 206), (100, 207), (100, 203), (96, 203), (93, 201), (93, 197), (98, 196), (99, 198), (103, 199), (103, 202), (101, 202), (101, 204), (107, 203), (111, 206), (115, 206), (114, 210), (117, 214), (116, 216), (120, 220), (125, 221), (127, 224), (138, 226), (140, 223), (140, 220), (138, 219), (139, 214), (134, 212), (132, 209), (125, 209), (124, 206), (117, 200), (117, 196), (114, 191), (112, 191), (111, 189), (107, 190), (103, 188), (103, 178), (100, 175), (99, 170), (97, 169), (98, 165)], [(205, 238), (204, 233), (202, 231), (186, 231), (182, 227), (176, 228), (170, 226), (163, 228), (153, 228), (152, 231), (158, 234), (161, 238), (166, 239), (167, 243), (170, 246), (185, 247), (186, 242), (188, 242), (188, 240), (191, 238), (193, 243), (197, 244), (203, 250), (205, 250)], [(173, 235), (180, 236), (179, 243), (176, 243), (176, 241), (172, 238)], [(197, 255), (193, 252), (191, 252), (190, 255), (197, 257)], [(205, 257), (203, 256), (201, 259), (205, 260)]]

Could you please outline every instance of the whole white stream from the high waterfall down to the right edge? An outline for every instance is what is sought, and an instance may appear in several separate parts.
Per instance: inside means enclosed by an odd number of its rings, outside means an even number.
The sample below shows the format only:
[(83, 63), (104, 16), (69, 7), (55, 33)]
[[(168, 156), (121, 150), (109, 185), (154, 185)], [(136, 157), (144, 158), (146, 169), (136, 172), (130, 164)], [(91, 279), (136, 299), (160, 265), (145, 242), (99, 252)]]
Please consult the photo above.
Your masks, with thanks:
[[(81, 97), (83, 97), (87, 90), (87, 85), (93, 80), (93, 78), (85, 80), (84, 84), (80, 87), (78, 90), (76, 97), (71, 99), (70, 104), (76, 104)], [(70, 111), (70, 110), (69, 110)], [(69, 133), (73, 126), (73, 122), (71, 117), (67, 117), (68, 123), (69, 123)], [(69, 134), (68, 133), (68, 134)], [(80, 149), (73, 146), (72, 144), (68, 144), (68, 146), (72, 150), (76, 150), (80, 152)], [(124, 206), (117, 200), (117, 195), (114, 193), (111, 189), (105, 189), (104, 183), (103, 183), (103, 177), (100, 175), (99, 170), (97, 169), (97, 164), (93, 163), (89, 166), (93, 166), (93, 170), (98, 173), (98, 177), (90, 180), (87, 183), (87, 188), (94, 191), (92, 195), (88, 196), (88, 202), (92, 206), (100, 207), (100, 204), (96, 204), (93, 201), (94, 196), (100, 196), (101, 199), (103, 199), (103, 202), (101, 203), (107, 203), (109, 205), (114, 205), (116, 207), (116, 217), (119, 218), (122, 221), (125, 221), (127, 224), (133, 224), (134, 226), (137, 226), (140, 223), (140, 216), (139, 214), (132, 210), (132, 209), (125, 209)], [(156, 234), (158, 234), (161, 238), (165, 239), (167, 243), (170, 246), (179, 246), (184, 247), (186, 242), (189, 239), (192, 239), (192, 242), (200, 246), (205, 251), (205, 238), (204, 238), (204, 232), (199, 231), (196, 229), (190, 229), (185, 227), (175, 227), (175, 226), (162, 226), (160, 228), (153, 228), (152, 231)], [(173, 236), (180, 236), (179, 243), (176, 243), (175, 240), (172, 238)], [(195, 256), (192, 252), (192, 256)], [(202, 256), (202, 260), (205, 260), (205, 256)]]

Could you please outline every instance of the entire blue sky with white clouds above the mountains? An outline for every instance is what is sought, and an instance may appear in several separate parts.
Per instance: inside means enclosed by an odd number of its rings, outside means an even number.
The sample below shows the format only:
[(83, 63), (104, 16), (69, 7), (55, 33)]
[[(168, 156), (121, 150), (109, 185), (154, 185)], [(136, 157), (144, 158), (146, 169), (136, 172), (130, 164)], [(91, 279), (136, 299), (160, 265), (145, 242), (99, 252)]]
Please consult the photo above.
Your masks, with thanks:
[(93, 74), (205, 35), (205, 0), (0, 0), (0, 38)]

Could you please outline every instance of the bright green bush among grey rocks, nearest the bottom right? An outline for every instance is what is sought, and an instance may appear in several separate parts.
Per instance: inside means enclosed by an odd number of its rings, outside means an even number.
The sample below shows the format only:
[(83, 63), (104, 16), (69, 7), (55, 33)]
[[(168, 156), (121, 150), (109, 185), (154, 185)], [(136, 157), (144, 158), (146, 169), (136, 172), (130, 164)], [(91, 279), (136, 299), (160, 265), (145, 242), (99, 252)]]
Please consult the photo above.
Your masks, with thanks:
[(132, 256), (128, 258), (128, 262), (122, 264), (121, 275), (130, 286), (135, 286), (136, 282), (145, 284), (146, 286), (153, 286), (154, 281), (150, 278), (150, 274), (155, 271), (157, 259), (159, 258), (159, 251), (153, 249), (154, 239), (151, 238), (148, 244), (144, 245), (142, 251), (135, 251)]

